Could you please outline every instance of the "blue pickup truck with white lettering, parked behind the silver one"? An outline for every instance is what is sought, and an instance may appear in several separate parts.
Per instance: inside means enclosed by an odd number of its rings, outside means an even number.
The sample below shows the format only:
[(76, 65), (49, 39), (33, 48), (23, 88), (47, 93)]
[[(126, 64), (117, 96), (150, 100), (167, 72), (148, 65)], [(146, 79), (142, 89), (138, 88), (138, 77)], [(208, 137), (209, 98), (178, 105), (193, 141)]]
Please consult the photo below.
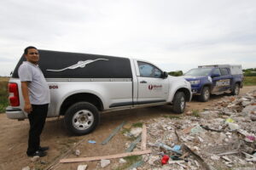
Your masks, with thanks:
[(192, 93), (203, 102), (210, 99), (211, 94), (238, 95), (243, 85), (241, 65), (201, 65), (183, 77), (190, 82)]

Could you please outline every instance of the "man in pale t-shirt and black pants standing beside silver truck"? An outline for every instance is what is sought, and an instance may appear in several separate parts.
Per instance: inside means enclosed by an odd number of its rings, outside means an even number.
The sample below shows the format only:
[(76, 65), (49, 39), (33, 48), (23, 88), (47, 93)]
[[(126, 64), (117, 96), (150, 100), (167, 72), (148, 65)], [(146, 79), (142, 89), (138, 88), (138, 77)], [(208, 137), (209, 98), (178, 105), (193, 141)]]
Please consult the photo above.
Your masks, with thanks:
[(49, 147), (40, 146), (40, 134), (43, 131), (49, 105), (49, 87), (38, 67), (39, 54), (35, 47), (24, 49), (26, 61), (20, 65), (18, 74), (24, 98), (24, 111), (30, 123), (27, 156), (46, 156)]

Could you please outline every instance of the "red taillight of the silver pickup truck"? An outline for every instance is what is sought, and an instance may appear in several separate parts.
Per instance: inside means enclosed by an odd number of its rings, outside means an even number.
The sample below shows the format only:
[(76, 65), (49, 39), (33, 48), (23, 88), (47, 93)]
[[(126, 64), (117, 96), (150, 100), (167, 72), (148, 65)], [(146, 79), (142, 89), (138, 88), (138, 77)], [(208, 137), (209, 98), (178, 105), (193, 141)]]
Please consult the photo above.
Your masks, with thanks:
[(9, 103), (11, 106), (19, 106), (20, 105), (20, 99), (19, 99), (19, 90), (18, 90), (18, 84), (16, 83), (9, 83)]

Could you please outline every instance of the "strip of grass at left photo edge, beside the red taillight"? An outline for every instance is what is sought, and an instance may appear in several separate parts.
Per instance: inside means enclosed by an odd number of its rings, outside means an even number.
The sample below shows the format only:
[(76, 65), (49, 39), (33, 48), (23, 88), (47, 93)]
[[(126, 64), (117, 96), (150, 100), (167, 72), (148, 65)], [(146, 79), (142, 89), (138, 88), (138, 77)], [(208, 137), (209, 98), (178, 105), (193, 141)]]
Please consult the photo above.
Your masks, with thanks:
[(9, 105), (8, 81), (9, 78), (0, 78), (0, 113), (5, 112), (5, 108)]

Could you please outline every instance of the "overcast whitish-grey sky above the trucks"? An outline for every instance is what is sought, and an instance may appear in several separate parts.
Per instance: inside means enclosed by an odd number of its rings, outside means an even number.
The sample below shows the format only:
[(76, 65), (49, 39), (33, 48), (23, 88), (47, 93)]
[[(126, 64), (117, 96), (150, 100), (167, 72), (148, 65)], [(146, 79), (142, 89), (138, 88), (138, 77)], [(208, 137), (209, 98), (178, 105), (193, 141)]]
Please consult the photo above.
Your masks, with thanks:
[(256, 67), (255, 0), (2, 0), (0, 76), (23, 49), (145, 59), (164, 71)]

